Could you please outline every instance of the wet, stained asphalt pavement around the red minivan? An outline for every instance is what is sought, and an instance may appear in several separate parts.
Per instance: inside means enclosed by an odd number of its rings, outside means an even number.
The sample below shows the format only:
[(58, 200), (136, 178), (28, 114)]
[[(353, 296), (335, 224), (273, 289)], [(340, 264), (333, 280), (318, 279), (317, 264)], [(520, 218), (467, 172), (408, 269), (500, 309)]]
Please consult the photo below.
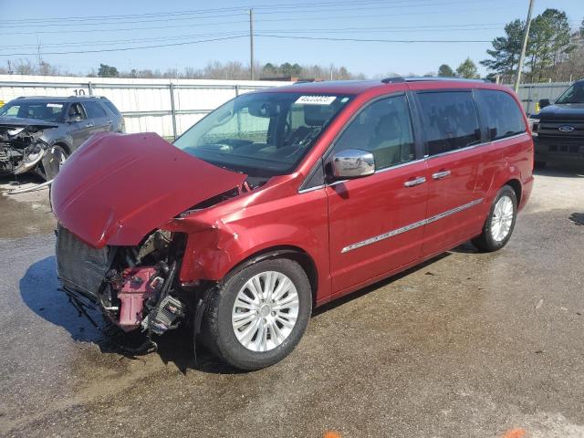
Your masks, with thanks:
[(286, 360), (238, 372), (195, 366), (185, 331), (120, 354), (57, 291), (47, 190), (0, 195), (0, 436), (584, 437), (579, 214), (584, 170), (539, 172), (502, 251), (318, 309)]

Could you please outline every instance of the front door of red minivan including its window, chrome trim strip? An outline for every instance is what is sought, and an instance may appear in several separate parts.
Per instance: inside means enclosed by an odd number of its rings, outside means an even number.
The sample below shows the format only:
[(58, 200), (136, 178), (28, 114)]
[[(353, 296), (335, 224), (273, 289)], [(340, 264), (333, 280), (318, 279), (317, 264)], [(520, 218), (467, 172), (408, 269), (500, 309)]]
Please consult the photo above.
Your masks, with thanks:
[(361, 110), (332, 155), (346, 149), (370, 151), (376, 172), (326, 189), (332, 291), (337, 295), (420, 256), (428, 191), (405, 95), (377, 99)]

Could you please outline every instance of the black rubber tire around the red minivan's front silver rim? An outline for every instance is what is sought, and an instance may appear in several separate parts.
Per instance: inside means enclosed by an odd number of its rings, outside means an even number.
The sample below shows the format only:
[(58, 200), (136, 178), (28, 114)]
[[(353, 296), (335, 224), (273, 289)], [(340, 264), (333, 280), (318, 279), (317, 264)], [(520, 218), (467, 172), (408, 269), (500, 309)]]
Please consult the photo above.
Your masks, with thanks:
[[(267, 351), (247, 349), (235, 336), (232, 311), (235, 298), (245, 283), (266, 271), (284, 274), (294, 284), (298, 296), (297, 320), (294, 328), (278, 346)], [(287, 258), (267, 259), (236, 270), (224, 279), (223, 286), (211, 298), (203, 318), (203, 342), (214, 354), (240, 370), (259, 370), (287, 357), (295, 349), (308, 326), (312, 311), (310, 282), (304, 269)], [(266, 319), (264, 319), (266, 320)]]

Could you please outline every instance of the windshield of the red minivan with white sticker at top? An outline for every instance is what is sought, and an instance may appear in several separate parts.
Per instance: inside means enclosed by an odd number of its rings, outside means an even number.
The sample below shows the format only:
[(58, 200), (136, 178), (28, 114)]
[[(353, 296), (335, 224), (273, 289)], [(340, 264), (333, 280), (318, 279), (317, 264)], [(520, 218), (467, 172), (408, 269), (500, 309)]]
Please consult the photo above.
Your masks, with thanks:
[(250, 176), (293, 172), (350, 96), (244, 94), (214, 110), (174, 141), (205, 162)]

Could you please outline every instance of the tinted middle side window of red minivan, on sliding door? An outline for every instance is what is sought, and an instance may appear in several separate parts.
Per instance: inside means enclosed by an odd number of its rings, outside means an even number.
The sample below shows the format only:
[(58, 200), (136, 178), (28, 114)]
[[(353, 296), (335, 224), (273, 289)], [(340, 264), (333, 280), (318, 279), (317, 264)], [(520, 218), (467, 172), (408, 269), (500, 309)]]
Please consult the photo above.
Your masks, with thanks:
[(456, 151), (480, 142), (473, 93), (470, 91), (418, 94), (428, 155)]

